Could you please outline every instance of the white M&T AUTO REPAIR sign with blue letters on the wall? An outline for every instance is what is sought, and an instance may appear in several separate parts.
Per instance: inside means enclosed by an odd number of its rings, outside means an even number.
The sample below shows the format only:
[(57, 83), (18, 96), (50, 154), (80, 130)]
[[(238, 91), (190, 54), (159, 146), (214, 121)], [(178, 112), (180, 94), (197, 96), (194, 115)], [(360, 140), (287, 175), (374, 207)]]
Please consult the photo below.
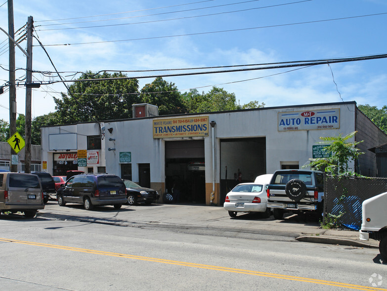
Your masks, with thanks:
[(278, 131), (340, 128), (340, 109), (278, 113)]

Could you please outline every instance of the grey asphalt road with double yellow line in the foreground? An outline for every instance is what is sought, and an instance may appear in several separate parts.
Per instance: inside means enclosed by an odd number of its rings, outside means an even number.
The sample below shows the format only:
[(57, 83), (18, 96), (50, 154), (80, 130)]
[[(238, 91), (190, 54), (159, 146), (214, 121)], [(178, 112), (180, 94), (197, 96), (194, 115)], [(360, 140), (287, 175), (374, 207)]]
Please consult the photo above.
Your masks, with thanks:
[[(261, 234), (261, 240), (259, 234), (252, 239), (143, 228), (150, 222), (151, 209), (163, 213), (152, 206), (128, 206), (119, 213), (108, 207), (86, 214), (79, 207), (56, 210), (64, 211), (67, 218), (73, 213), (84, 220), (46, 218), (50, 213), (54, 216), (50, 208), (56, 209), (56, 205), (49, 205), (35, 219), (1, 216), (2, 290), (387, 288), (386, 265), (380, 264), (379, 251), (374, 248), (297, 242), (291, 237), (277, 240), (285, 235), (270, 238), (270, 234)], [(174, 215), (170, 213), (165, 220)], [(92, 216), (110, 222), (124, 221), (124, 216), (128, 219), (121, 225), (85, 219)], [(216, 219), (233, 223), (226, 217)]]

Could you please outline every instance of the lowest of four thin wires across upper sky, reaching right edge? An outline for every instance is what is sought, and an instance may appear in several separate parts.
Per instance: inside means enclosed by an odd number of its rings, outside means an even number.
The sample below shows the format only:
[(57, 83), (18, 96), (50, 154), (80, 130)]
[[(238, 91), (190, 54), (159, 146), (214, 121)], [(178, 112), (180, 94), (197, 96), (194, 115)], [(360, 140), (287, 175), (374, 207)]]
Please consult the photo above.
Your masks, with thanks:
[(309, 24), (309, 23), (319, 23), (319, 22), (336, 21), (336, 20), (344, 20), (344, 19), (353, 19), (353, 18), (360, 18), (360, 17), (370, 17), (370, 16), (377, 16), (377, 15), (385, 15), (385, 14), (387, 14), (387, 12), (375, 13), (375, 14), (367, 14), (367, 15), (340, 17), (340, 18), (331, 18), (331, 19), (323, 19), (323, 20), (312, 20), (312, 21), (304, 21), (304, 22), (294, 22), (294, 23), (286, 23), (286, 24), (266, 25), (266, 26), (249, 27), (249, 28), (237, 28), (237, 29), (210, 31), (210, 32), (178, 34), (178, 35), (171, 35), (171, 36), (158, 36), (158, 37), (147, 37), (147, 38), (137, 38), (137, 39), (126, 39), (126, 40), (115, 40), (115, 41), (99, 41), (99, 42), (87, 42), (87, 43), (73, 43), (73, 44), (52, 44), (52, 45), (45, 45), (45, 46), (46, 47), (52, 47), (52, 46), (75, 46), (75, 45), (90, 45), (90, 44), (103, 44), (103, 43), (118, 43), (118, 42), (129, 42), (129, 41), (154, 40), (154, 39), (164, 39), (164, 38), (172, 38), (172, 37), (205, 35), (205, 34), (235, 32), (235, 31), (262, 29), (262, 28), (273, 28), (273, 27), (282, 27), (282, 26), (291, 26), (291, 25), (300, 25), (300, 24)]

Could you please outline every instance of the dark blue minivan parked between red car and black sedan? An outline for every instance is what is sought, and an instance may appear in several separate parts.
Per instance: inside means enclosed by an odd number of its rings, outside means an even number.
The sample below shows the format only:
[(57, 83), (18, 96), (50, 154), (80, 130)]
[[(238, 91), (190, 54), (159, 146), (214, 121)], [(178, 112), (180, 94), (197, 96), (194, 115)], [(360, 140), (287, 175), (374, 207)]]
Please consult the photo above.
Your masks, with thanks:
[(126, 187), (121, 178), (110, 174), (81, 174), (71, 177), (56, 192), (58, 204), (84, 204), (86, 210), (94, 205), (113, 205), (120, 209), (127, 202)]

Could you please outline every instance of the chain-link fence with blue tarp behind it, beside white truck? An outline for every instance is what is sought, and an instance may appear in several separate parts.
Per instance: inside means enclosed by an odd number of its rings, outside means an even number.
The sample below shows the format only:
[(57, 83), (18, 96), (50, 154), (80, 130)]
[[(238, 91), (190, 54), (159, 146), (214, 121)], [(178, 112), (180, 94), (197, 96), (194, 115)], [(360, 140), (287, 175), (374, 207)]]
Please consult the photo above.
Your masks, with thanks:
[(324, 224), (361, 227), (362, 203), (387, 192), (387, 178), (325, 176)]

